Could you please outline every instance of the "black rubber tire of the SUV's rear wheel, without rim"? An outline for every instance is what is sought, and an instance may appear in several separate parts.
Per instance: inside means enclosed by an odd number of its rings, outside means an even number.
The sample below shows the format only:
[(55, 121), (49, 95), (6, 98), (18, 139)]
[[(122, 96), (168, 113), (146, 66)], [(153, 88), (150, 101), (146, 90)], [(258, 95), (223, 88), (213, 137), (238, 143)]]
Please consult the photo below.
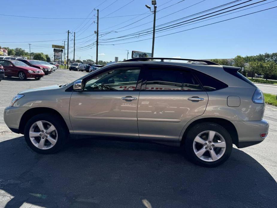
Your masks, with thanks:
[[(222, 137), (225, 140), (225, 143), (226, 143), (225, 152), (219, 159), (217, 159), (215, 161), (210, 161), (210, 162), (204, 161), (204, 160), (200, 159), (193, 150), (194, 139), (196, 138), (196, 136), (198, 134), (200, 134), (201, 132), (205, 132), (205, 131), (218, 132), (220, 135), (222, 135)], [(222, 126), (220, 126), (217, 123), (205, 122), (205, 123), (196, 124), (189, 130), (186, 138), (184, 138), (184, 139), (185, 139), (184, 147), (185, 147), (187, 157), (194, 164), (204, 166), (204, 167), (216, 167), (218, 165), (221, 165), (229, 158), (229, 156), (231, 155), (231, 152), (232, 152), (232, 148), (233, 148), (232, 138), (231, 138), (230, 134), (228, 133), (228, 131), (225, 128), (223, 128)], [(203, 147), (204, 147), (204, 145), (203, 145)], [(207, 150), (207, 151), (209, 151), (209, 150)], [(210, 155), (210, 153), (207, 153), (207, 154)]]

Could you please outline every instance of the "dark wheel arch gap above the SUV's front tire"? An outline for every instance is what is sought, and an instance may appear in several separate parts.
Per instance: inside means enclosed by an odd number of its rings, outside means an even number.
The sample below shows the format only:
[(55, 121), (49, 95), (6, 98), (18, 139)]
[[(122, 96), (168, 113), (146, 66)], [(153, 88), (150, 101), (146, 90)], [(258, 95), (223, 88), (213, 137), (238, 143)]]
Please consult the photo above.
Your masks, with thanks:
[(28, 122), (28, 120), (37, 115), (37, 114), (41, 114), (41, 113), (48, 113), (48, 114), (55, 114), (57, 115), (58, 117), (60, 117), (61, 121), (63, 122), (63, 124), (66, 126), (66, 130), (67, 132), (69, 133), (69, 129), (68, 129), (68, 126), (66, 125), (66, 122), (65, 120), (63, 119), (63, 117), (61, 116), (61, 114), (52, 109), (52, 108), (46, 108), (46, 107), (37, 107), (37, 108), (30, 108), (28, 111), (26, 111), (21, 119), (20, 119), (20, 123), (19, 123), (19, 133), (20, 134), (24, 134), (24, 127), (25, 127), (25, 124)]

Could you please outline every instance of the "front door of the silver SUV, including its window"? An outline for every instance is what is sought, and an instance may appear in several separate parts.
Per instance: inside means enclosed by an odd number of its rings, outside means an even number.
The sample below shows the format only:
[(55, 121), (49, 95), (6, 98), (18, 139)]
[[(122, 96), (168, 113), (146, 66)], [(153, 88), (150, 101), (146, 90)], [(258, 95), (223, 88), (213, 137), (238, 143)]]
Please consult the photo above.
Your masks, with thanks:
[(74, 134), (138, 138), (140, 71), (140, 65), (121, 65), (84, 79), (84, 91), (73, 92), (70, 99)]

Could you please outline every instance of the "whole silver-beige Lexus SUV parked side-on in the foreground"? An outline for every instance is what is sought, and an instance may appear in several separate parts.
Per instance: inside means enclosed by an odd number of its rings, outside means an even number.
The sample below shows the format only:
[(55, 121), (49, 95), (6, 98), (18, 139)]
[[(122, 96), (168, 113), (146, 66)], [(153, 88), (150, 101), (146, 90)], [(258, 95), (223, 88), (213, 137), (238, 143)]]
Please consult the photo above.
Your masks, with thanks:
[(214, 167), (228, 159), (232, 144), (258, 144), (269, 128), (261, 90), (238, 70), (204, 60), (134, 58), (70, 84), (20, 92), (4, 120), (38, 153), (60, 150), (69, 135), (125, 138), (181, 146), (192, 162)]

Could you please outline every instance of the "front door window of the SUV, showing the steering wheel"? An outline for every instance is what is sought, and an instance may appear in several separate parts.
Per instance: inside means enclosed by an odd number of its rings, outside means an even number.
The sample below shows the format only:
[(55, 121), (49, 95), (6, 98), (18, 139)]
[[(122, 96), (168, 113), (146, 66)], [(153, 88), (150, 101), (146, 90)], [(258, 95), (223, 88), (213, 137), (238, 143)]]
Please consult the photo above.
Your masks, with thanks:
[(102, 73), (85, 84), (84, 91), (134, 91), (140, 67), (122, 67)]

